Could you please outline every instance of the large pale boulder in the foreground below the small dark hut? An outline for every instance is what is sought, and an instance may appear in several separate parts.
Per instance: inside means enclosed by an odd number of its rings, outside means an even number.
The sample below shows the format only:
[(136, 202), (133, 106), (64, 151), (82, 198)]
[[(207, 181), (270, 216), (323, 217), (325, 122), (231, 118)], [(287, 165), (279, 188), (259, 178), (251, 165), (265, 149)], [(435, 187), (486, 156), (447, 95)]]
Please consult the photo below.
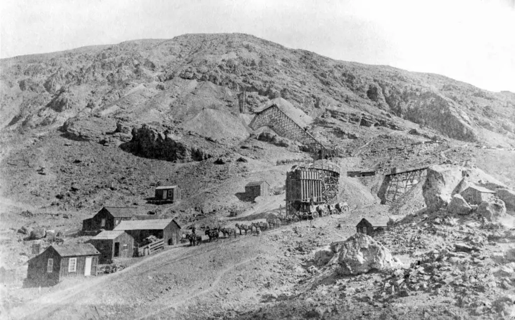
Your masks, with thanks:
[(384, 245), (369, 235), (356, 233), (339, 247), (336, 271), (340, 275), (356, 275), (396, 265), (390, 251)]

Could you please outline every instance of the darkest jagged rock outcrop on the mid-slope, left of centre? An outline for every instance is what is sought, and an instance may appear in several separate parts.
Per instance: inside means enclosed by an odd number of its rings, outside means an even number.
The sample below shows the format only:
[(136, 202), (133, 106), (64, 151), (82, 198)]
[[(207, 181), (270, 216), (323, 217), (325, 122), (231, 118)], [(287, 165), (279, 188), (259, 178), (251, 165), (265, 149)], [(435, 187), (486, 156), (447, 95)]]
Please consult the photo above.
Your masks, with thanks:
[(188, 143), (168, 129), (159, 131), (143, 125), (139, 129), (132, 129), (132, 140), (123, 144), (122, 148), (142, 157), (167, 161), (201, 161), (213, 157), (200, 142)]

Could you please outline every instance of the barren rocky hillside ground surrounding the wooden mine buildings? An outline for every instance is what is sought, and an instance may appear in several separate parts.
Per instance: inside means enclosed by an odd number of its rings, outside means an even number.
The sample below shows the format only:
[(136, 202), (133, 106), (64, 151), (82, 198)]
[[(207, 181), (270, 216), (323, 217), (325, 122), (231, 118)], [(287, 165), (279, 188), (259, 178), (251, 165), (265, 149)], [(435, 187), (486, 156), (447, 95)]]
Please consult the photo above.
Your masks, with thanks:
[[(467, 300), (460, 296), (472, 289), (454, 292), (449, 283), (437, 283), (438, 276), (430, 289), (405, 296), (383, 292), (391, 273), (335, 278), (313, 257), (354, 234), (363, 217), (392, 216), (401, 221), (379, 239), (407, 265), (435, 250), (448, 255), (459, 240), (482, 247), (473, 259), (457, 255), (464, 265), (453, 277), (465, 279), (470, 272), (464, 270), (478, 265), (485, 273), (497, 267), (489, 257), (504, 250), (502, 241), (511, 238), (501, 235), (510, 228), (479, 227), (469, 217), (456, 225), (431, 215), (420, 184), (391, 205), (380, 205), (377, 193), (393, 168), (440, 163), (482, 169), (515, 189), (514, 93), (336, 61), (238, 33), (90, 46), (2, 59), (0, 67), (2, 318), (503, 315), (504, 309), (477, 304), (494, 301), (512, 284), (485, 284)], [(254, 112), (272, 104), (303, 134), (339, 149), (330, 161), (342, 170), (338, 200), (348, 203), (348, 212), (259, 236), (214, 243), (204, 236), (205, 246), (181, 244), (119, 261), (126, 270), (112, 275), (23, 287), (33, 255), (21, 227), (55, 230), (65, 243), (83, 243), (91, 237), (80, 234), (82, 220), (104, 206), (174, 218), (184, 231), (193, 224), (234, 228), (284, 212), (286, 172), (316, 155), (273, 127), (249, 127)], [(376, 175), (346, 176), (354, 170)], [(249, 199), (246, 184), (260, 180), (271, 195)], [(180, 201), (147, 202), (156, 187), (173, 184), (181, 187)], [(43, 240), (43, 247), (50, 244)]]

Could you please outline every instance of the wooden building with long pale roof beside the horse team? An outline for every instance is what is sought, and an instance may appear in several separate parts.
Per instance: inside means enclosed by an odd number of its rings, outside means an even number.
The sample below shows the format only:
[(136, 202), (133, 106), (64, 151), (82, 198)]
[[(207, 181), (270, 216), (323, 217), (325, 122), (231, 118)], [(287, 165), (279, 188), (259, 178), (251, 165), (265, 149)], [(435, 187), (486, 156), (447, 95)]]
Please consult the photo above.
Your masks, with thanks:
[(181, 240), (181, 227), (171, 218), (122, 221), (114, 229), (127, 231), (137, 244), (143, 243), (149, 235), (163, 239), (166, 245), (178, 244)]

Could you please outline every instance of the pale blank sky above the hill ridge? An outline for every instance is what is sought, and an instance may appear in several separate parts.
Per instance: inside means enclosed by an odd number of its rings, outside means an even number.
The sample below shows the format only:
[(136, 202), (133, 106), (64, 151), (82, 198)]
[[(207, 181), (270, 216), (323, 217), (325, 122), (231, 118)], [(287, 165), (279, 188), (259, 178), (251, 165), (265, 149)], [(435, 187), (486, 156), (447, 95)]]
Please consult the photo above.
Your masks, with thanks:
[(515, 0), (3, 0), (0, 57), (184, 33), (286, 47), (515, 92)]

